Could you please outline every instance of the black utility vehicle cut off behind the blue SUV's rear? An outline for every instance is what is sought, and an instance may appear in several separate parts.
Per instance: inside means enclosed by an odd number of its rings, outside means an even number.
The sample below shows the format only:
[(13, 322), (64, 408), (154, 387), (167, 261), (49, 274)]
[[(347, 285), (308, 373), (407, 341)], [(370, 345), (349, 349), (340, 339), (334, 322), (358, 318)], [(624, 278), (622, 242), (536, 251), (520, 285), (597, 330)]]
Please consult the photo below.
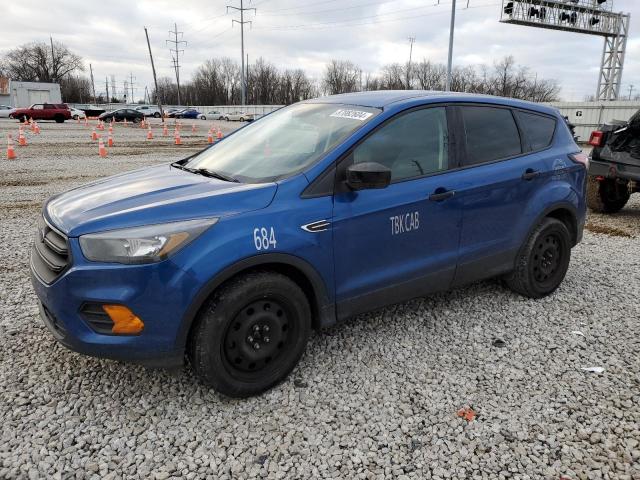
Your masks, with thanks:
[(613, 121), (591, 133), (587, 205), (615, 213), (640, 192), (640, 111), (628, 122)]

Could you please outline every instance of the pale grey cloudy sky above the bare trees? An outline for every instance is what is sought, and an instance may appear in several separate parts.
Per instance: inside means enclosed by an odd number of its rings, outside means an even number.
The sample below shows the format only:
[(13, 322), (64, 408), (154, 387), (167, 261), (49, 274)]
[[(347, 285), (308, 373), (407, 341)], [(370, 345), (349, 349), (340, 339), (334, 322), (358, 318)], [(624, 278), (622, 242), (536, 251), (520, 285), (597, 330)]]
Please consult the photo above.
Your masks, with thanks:
[[(623, 76), (640, 92), (640, 1), (609, 0), (614, 10), (631, 13), (631, 35)], [(181, 79), (211, 57), (240, 60), (239, 18), (225, 5), (240, 0), (21, 0), (3, 2), (0, 53), (49, 35), (67, 44), (87, 64), (93, 64), (96, 91), (104, 91), (105, 76), (115, 75), (123, 88), (133, 73), (135, 96), (153, 85), (143, 26), (149, 28), (159, 76), (173, 75), (165, 39), (173, 23), (184, 32)], [(416, 42), (414, 60), (445, 62), (451, 0), (245, 0), (257, 8), (247, 19), (245, 48), (252, 62), (264, 57), (279, 67), (302, 67), (313, 77), (322, 74), (332, 59), (351, 60), (364, 72), (382, 65), (405, 62), (409, 36)], [(456, 65), (492, 64), (505, 55), (527, 65), (543, 78), (555, 78), (565, 100), (582, 100), (594, 94), (602, 53), (602, 38), (555, 32), (498, 22), (500, 0), (458, 0)], [(54, 6), (55, 5), (55, 6)], [(136, 98), (137, 99), (137, 98)]]

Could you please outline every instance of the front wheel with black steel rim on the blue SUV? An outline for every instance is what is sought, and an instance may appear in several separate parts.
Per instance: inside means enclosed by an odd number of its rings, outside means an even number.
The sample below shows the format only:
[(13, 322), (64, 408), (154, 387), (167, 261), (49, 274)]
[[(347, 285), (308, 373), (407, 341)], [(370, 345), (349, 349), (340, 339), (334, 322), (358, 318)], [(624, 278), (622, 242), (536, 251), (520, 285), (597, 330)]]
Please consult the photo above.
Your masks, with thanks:
[(249, 273), (215, 292), (201, 310), (189, 342), (191, 366), (223, 395), (255, 395), (293, 370), (310, 331), (309, 302), (296, 283), (279, 273)]

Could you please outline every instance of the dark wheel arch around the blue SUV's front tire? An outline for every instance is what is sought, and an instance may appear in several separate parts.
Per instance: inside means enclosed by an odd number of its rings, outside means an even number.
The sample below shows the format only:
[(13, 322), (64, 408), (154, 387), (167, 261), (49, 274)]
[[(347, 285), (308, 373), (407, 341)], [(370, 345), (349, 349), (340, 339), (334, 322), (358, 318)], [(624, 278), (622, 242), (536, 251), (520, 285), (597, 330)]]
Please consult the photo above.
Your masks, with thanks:
[(213, 292), (233, 278), (256, 270), (281, 273), (302, 288), (311, 307), (313, 328), (318, 329), (335, 323), (335, 305), (329, 298), (322, 277), (312, 265), (293, 255), (260, 254), (225, 268), (200, 289), (182, 319), (177, 338), (177, 347), (180, 350), (186, 348), (194, 321)]

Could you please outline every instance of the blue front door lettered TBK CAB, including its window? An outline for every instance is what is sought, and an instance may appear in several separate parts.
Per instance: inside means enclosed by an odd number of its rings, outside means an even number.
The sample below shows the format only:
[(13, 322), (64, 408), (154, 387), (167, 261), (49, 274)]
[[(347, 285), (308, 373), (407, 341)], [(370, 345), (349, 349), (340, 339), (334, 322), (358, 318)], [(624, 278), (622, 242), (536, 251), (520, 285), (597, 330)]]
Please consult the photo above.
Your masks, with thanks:
[[(461, 209), (447, 173), (454, 165), (447, 117), (441, 106), (400, 113), (341, 162), (333, 216), (339, 318), (450, 286)], [(360, 162), (388, 167), (391, 185), (341, 187), (346, 167)]]

